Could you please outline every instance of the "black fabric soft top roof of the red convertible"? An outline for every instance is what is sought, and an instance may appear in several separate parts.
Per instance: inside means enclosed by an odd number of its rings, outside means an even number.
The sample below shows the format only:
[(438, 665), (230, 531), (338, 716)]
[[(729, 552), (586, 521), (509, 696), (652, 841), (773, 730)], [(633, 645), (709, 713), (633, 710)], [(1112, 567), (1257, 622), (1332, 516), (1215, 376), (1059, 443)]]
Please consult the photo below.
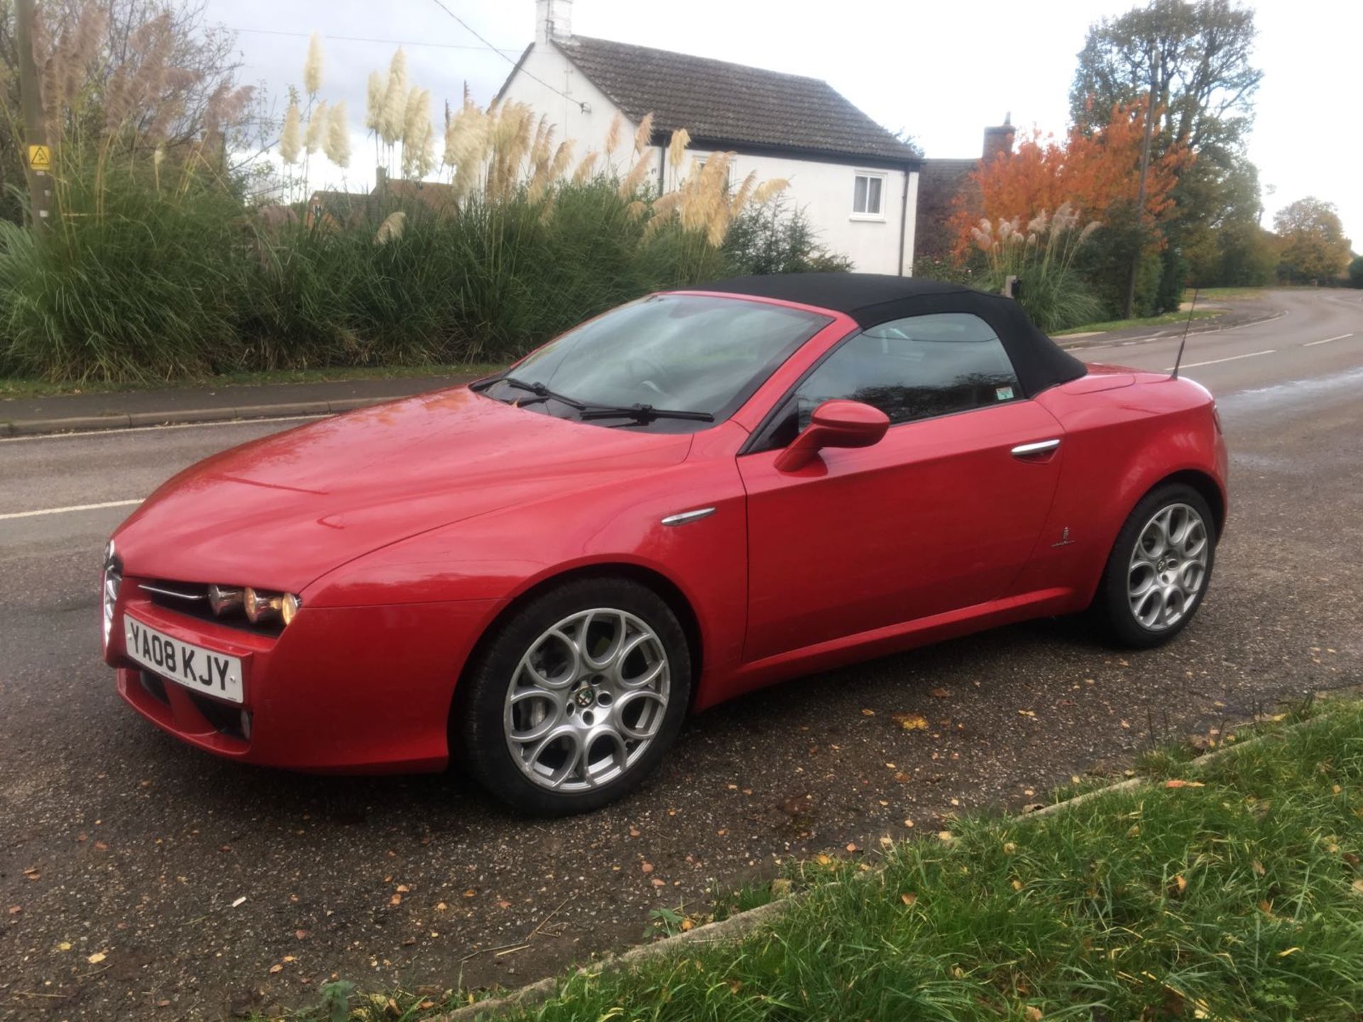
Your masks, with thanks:
[(771, 274), (733, 277), (695, 290), (751, 294), (842, 312), (863, 330), (878, 323), (934, 312), (969, 312), (998, 334), (1028, 397), (1078, 379), (1088, 368), (1033, 326), (1013, 298), (958, 283), (889, 274)]

